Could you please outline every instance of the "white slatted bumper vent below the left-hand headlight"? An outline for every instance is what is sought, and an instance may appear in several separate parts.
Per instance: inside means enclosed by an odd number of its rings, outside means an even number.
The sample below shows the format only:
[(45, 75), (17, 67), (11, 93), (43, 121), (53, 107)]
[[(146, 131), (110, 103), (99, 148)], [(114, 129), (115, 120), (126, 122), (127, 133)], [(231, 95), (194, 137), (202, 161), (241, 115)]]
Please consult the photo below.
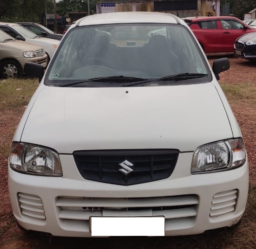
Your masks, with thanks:
[(34, 219), (46, 219), (42, 199), (32, 194), (18, 194), (21, 213)]

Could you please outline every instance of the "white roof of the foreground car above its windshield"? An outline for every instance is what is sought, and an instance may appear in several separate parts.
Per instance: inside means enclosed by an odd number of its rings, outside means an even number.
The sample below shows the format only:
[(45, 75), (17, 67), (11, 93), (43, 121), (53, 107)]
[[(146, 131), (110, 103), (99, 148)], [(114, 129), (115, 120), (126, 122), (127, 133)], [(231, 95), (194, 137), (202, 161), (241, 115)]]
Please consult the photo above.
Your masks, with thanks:
[(161, 12), (112, 12), (85, 16), (76, 21), (75, 26), (117, 23), (182, 23), (180, 18)]

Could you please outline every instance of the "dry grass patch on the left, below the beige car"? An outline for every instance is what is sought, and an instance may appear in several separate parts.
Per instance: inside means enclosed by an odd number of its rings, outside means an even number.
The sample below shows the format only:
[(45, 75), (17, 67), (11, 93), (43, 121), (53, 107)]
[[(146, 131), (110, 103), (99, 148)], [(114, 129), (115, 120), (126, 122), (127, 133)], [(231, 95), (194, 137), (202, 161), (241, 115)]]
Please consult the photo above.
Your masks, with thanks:
[(26, 106), (38, 87), (38, 79), (0, 79), (0, 109)]

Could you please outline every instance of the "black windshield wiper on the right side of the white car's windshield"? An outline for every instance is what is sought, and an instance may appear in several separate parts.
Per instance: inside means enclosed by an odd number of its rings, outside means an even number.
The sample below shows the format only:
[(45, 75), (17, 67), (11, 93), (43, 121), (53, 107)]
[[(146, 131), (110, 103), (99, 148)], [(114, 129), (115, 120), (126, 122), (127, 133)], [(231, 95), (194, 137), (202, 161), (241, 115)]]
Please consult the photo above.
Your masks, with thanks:
[(148, 80), (145, 80), (145, 81), (124, 83), (121, 86), (122, 87), (129, 87), (129, 86), (139, 85), (139, 84), (143, 84), (143, 83), (149, 83), (149, 82), (153, 82), (153, 81), (183, 81), (183, 80), (188, 80), (188, 79), (191, 79), (191, 78), (202, 78), (202, 77), (205, 77), (207, 75), (208, 74), (197, 74), (197, 73), (174, 74), (174, 75), (164, 76), (164, 77), (161, 77), (161, 78), (148, 79)]

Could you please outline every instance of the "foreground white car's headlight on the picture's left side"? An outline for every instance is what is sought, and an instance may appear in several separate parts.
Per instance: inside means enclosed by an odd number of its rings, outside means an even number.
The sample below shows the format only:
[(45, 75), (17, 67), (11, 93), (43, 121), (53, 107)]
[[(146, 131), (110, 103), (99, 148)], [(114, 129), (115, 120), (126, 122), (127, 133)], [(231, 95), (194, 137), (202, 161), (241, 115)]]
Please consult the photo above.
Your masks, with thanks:
[(62, 176), (59, 154), (39, 145), (13, 142), (9, 166), (23, 173)]

